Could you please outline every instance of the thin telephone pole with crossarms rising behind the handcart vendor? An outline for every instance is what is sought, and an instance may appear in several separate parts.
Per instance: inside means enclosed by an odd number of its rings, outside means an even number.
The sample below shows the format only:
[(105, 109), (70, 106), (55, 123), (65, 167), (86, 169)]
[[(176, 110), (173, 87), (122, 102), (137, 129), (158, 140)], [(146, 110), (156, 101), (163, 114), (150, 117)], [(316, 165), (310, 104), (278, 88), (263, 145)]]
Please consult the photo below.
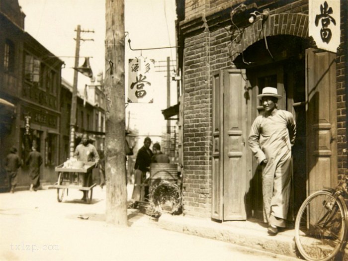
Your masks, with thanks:
[[(75, 66), (74, 68), (79, 67), (79, 58), (80, 58), (80, 42), (81, 41), (93, 41), (93, 39), (82, 39), (81, 33), (94, 33), (90, 30), (81, 30), (81, 25), (79, 24), (76, 31), (76, 49), (75, 49)], [(78, 101), (78, 71), (74, 71), (74, 83), (73, 83), (73, 95), (71, 100), (71, 114), (70, 114), (70, 158), (74, 156), (75, 149), (75, 128), (76, 128), (76, 110), (77, 110), (77, 101)]]

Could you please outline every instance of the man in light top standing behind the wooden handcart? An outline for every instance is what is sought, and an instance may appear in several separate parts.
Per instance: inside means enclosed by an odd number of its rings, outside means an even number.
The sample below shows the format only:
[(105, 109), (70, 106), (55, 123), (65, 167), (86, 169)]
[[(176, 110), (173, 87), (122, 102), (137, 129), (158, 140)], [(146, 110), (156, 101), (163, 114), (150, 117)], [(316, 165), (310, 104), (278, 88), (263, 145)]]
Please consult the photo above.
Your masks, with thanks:
[[(81, 143), (76, 147), (74, 156), (77, 157), (78, 161), (94, 162), (95, 165), (99, 162), (99, 155), (95, 147), (89, 143), (88, 134), (85, 132), (82, 134)], [(90, 180), (91, 181), (91, 180)], [(84, 186), (90, 186), (87, 184), (87, 175), (84, 175)], [(84, 196), (82, 200), (87, 201), (87, 191), (84, 190)]]

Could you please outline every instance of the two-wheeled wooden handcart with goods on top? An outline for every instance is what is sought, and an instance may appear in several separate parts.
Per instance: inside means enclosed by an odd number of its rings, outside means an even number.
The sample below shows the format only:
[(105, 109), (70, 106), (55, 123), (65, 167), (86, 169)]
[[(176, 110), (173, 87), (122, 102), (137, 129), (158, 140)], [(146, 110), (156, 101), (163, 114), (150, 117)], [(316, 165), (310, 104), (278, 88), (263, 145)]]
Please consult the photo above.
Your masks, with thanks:
[(87, 184), (92, 183), (92, 170), (95, 167), (94, 162), (82, 162), (82, 167), (63, 167), (64, 164), (59, 165), (55, 168), (58, 173), (58, 181), (53, 185), (53, 188), (57, 188), (57, 200), (62, 202), (64, 197), (64, 192), (67, 190), (67, 195), (69, 193), (69, 188), (86, 190), (87, 191), (87, 203), (92, 201), (93, 187), (96, 184), (90, 186), (84, 186), (84, 175), (87, 175)]

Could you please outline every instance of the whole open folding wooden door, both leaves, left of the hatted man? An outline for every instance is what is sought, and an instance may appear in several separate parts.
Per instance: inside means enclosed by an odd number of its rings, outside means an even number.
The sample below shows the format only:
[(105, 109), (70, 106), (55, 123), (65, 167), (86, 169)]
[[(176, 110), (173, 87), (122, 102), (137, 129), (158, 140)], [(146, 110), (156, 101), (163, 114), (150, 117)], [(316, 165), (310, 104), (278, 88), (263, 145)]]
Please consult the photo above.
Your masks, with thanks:
[(245, 70), (225, 70), (213, 77), (212, 218), (218, 220), (247, 217), (251, 175), (248, 85)]

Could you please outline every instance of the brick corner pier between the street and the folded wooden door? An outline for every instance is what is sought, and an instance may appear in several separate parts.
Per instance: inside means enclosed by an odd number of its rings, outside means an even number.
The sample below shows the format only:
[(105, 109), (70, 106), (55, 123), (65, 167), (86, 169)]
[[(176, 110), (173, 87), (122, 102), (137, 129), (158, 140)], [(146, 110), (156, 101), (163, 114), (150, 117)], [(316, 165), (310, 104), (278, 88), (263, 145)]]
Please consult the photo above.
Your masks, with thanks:
[(183, 213), (200, 217), (211, 208), (208, 43), (209, 33), (190, 36), (184, 50)]

